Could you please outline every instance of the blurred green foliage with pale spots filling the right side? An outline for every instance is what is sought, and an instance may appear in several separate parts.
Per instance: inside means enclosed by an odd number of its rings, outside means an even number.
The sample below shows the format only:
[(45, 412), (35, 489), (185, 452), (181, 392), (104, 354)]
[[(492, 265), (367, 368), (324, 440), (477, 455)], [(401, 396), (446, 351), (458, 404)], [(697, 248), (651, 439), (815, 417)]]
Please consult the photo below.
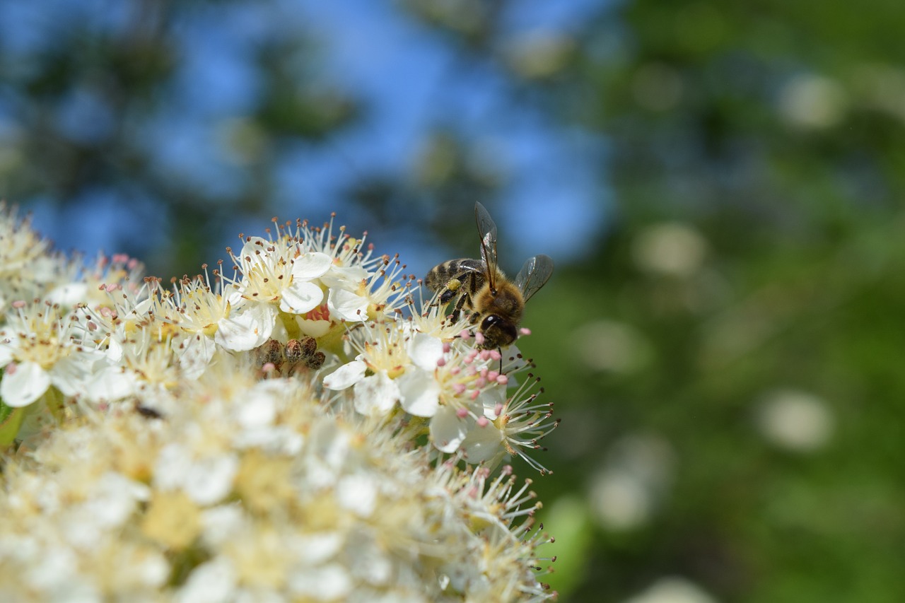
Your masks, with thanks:
[(586, 32), (567, 119), (610, 135), (617, 218), (525, 345), (564, 415), (538, 492), (595, 533), (567, 600), (905, 592), (905, 14), (868, 4), (641, 1)]

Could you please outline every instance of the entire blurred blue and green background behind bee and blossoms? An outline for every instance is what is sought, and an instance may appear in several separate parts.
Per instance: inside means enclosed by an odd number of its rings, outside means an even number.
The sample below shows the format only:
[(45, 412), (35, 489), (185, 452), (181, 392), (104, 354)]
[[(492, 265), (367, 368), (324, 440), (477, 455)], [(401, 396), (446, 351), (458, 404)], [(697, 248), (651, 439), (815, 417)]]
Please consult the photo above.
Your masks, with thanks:
[[(0, 197), (162, 277), (330, 212), (412, 273), (557, 261), (563, 601), (905, 594), (891, 0), (0, 3)], [(531, 476), (524, 464), (517, 473)]]

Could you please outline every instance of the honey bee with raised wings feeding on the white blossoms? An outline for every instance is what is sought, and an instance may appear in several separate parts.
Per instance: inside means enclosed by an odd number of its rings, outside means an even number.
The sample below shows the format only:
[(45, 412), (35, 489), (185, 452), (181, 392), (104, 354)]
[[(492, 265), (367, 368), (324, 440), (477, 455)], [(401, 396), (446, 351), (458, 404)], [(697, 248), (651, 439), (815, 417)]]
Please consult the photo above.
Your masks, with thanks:
[(462, 308), (472, 312), (470, 320), (478, 323), (484, 338), (481, 348), (504, 348), (518, 339), (525, 302), (549, 280), (553, 260), (548, 255), (535, 255), (510, 281), (497, 267), (497, 225), (480, 203), (474, 204), (474, 217), (481, 236), (481, 259), (462, 258), (437, 264), (427, 273), (424, 283), (439, 293), (439, 304), (458, 297), (453, 321), (459, 319)]

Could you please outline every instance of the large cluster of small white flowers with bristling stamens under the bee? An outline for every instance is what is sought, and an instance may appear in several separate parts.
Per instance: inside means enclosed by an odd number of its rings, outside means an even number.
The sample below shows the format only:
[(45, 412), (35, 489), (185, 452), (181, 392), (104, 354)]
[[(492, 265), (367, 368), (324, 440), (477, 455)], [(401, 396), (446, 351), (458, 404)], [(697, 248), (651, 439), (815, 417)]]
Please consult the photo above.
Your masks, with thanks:
[[(304, 222), (164, 285), (0, 210), (0, 589), (51, 600), (544, 600), (518, 349)], [(478, 335), (478, 338), (474, 337)], [(496, 469), (496, 471), (494, 471)]]

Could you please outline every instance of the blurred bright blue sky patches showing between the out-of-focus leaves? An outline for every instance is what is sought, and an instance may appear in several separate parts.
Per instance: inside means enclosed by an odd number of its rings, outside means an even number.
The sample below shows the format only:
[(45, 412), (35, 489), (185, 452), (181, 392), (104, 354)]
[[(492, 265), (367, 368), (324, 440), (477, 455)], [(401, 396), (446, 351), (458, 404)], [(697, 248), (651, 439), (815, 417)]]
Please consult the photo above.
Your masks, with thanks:
[[(24, 59), (72, 22), (116, 31), (129, 21), (134, 7), (116, 0), (3, 3), (4, 64), (27, 69)], [(502, 21), (503, 39), (541, 29), (575, 32), (601, 7), (596, 0), (511, 3)], [(275, 159), (274, 201), (281, 217), (300, 215), (317, 222), (337, 211), (341, 221), (357, 225), (354, 215), (343, 220), (344, 210), (352, 210), (341, 190), (367, 175), (405, 177), (424, 147), (425, 132), (447, 124), (472, 142), (479, 157), (498, 162), (509, 177), (495, 218), (501, 239), (522, 257), (505, 267), (517, 269), (523, 257), (541, 252), (558, 261), (577, 257), (602, 229), (608, 205), (602, 176), (605, 140), (551, 122), (532, 103), (522, 102), (498, 66), (463, 65), (448, 39), (390, 2), (240, 2), (204, 5), (182, 18), (172, 37), (182, 61), (164, 91), (167, 102), (151, 119), (130, 124), (137, 144), (153, 153), (155, 168), (228, 204), (242, 185), (243, 172), (217, 137), (224, 122), (241, 120), (261, 93), (250, 51), (271, 36), (302, 30), (315, 34), (319, 59), (317, 70), (300, 66), (300, 77), (351, 91), (367, 102), (368, 111), (365, 119), (328, 144), (300, 143)], [(8, 107), (0, 88), (0, 144), (14, 140), (20, 126)], [(57, 116), (71, 139), (82, 140), (103, 135), (111, 127), (108, 118), (109, 111), (89, 87), (77, 88)], [(0, 196), (7, 196), (3, 187), (0, 179)], [(36, 227), (60, 247), (89, 254), (99, 248), (118, 251), (118, 240), (134, 236), (122, 225), (132, 224), (152, 239), (156, 232), (163, 236), (167, 231), (166, 218), (155, 212), (155, 200), (140, 195), (124, 200), (96, 190), (62, 208), (51, 199), (10, 200), (32, 210)], [(248, 220), (247, 215), (235, 216), (237, 233), (266, 227)], [(401, 216), (397, 231), (372, 233), (387, 240), (372, 238), (380, 251), (398, 251), (414, 260), (409, 263), (415, 270), (424, 270), (429, 266), (414, 258), (429, 242), (405, 235), (416, 227)], [(233, 243), (231, 238), (223, 245)]]

